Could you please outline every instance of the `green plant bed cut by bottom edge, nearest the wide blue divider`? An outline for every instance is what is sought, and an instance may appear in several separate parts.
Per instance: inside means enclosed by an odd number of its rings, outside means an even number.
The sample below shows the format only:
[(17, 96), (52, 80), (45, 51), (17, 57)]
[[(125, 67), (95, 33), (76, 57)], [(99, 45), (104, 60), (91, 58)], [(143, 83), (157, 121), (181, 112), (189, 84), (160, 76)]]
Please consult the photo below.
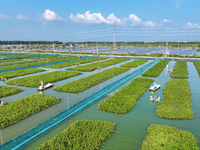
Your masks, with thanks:
[(36, 150), (97, 150), (111, 137), (115, 124), (108, 121), (78, 120)]

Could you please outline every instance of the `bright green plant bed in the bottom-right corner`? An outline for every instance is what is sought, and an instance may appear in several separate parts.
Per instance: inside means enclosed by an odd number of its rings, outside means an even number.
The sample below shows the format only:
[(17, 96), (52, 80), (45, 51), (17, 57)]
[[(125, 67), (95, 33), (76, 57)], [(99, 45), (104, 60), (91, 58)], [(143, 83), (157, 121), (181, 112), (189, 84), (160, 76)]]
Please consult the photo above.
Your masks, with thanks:
[(152, 124), (142, 142), (141, 150), (199, 150), (198, 140), (189, 131), (183, 131), (168, 125)]

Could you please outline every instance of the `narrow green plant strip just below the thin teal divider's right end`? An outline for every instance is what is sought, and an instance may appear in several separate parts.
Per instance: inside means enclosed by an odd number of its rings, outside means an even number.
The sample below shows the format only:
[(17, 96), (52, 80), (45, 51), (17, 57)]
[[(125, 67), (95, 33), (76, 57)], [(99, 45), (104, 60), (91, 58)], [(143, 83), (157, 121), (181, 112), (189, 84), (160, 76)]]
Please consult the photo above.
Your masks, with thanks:
[(107, 59), (107, 58), (99, 57), (99, 58), (77, 60), (77, 61), (71, 61), (71, 62), (66, 62), (66, 63), (61, 63), (61, 64), (49, 65), (49, 66), (45, 66), (45, 68), (63, 68), (63, 67), (76, 65), (77, 63), (85, 64), (85, 63), (90, 63), (90, 62), (104, 60), (104, 59)]

